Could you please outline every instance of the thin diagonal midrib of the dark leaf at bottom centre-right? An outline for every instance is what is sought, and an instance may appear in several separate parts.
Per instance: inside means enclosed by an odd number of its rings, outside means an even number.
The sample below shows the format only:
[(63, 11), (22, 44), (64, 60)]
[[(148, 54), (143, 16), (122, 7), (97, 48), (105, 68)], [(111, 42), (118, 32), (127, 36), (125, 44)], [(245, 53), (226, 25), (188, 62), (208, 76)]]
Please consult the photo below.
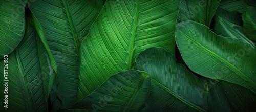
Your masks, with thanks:
[(191, 103), (190, 101), (184, 99), (182, 96), (176, 94), (175, 92), (171, 91), (170, 89), (168, 89), (167, 87), (163, 86), (162, 84), (158, 83), (157, 81), (155, 81), (154, 79), (151, 79), (152, 82), (154, 82), (156, 85), (158, 85), (160, 88), (164, 89), (165, 92), (169, 93), (170, 95), (174, 96), (175, 98), (177, 98), (178, 100), (180, 100), (181, 102), (185, 103), (186, 105), (188, 105), (191, 108), (194, 108), (198, 111), (205, 111), (203, 108), (195, 105), (194, 103)]

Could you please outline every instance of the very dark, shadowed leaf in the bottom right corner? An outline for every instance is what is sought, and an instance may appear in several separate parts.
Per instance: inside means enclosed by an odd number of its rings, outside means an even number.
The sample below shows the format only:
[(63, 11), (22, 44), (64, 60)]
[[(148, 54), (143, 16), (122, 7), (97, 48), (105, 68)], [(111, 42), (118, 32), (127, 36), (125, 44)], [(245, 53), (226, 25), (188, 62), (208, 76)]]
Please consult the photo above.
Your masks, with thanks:
[(243, 86), (228, 83), (226, 81), (221, 81), (221, 85), (235, 111), (256, 110), (256, 94)]

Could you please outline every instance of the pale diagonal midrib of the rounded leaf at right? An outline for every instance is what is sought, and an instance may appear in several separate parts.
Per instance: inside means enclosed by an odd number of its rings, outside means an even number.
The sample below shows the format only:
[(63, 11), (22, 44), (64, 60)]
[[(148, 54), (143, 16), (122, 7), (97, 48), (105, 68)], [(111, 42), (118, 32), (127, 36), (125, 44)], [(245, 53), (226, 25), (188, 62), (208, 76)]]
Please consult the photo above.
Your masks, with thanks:
[(204, 46), (202, 46), (199, 42), (190, 39), (187, 35), (185, 35), (183, 32), (180, 31), (180, 33), (186, 37), (188, 40), (190, 40), (191, 42), (195, 43), (196, 46), (198, 46), (199, 48), (201, 48), (203, 51), (208, 52), (211, 56), (217, 58), (219, 61), (223, 62), (230, 70), (232, 70), (234, 73), (238, 74), (242, 79), (244, 79), (245, 81), (249, 82), (253, 89), (256, 89), (256, 83), (253, 82), (249, 77), (247, 77), (243, 72), (241, 72), (238, 68), (236, 68), (236, 66), (234, 66), (233, 64), (231, 64), (230, 62), (228, 62), (227, 60), (223, 59), (222, 57), (220, 57), (219, 55), (217, 55), (216, 53), (206, 49)]

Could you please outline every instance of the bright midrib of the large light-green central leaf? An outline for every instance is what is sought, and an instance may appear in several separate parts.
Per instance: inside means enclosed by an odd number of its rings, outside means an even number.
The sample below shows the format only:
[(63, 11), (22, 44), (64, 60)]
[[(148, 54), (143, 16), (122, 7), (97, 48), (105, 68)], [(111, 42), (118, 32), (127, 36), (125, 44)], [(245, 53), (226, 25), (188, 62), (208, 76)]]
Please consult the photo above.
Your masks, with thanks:
[(136, 1), (136, 12), (134, 17), (134, 24), (132, 29), (132, 37), (130, 40), (129, 48), (128, 48), (128, 57), (126, 58), (127, 66), (126, 70), (129, 70), (132, 68), (132, 61), (133, 61), (133, 55), (134, 55), (134, 43), (135, 43), (135, 37), (136, 37), (136, 31), (137, 31), (137, 24), (138, 24), (138, 17), (139, 17), (139, 0)]

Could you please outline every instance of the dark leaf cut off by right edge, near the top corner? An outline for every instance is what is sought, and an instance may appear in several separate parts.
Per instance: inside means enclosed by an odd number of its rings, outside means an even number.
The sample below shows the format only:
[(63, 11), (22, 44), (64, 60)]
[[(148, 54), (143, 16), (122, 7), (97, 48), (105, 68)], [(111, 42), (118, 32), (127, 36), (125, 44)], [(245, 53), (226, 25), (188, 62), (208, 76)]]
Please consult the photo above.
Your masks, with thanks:
[(243, 13), (243, 24), (245, 35), (256, 42), (256, 7), (249, 6)]

